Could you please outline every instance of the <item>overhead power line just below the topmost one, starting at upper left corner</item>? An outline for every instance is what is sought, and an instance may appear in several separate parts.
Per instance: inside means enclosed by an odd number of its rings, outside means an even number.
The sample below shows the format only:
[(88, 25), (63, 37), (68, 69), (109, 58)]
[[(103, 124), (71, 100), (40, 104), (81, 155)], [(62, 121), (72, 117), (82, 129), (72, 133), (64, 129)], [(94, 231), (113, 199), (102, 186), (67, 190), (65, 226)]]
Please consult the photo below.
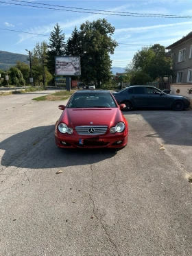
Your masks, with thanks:
[[(11, 0), (11, 1), (16, 1), (16, 0)], [(77, 11), (77, 10), (66, 10), (66, 9), (56, 9), (56, 8), (48, 8), (48, 7), (43, 7), (43, 6), (34, 6), (34, 5), (26, 5), (26, 4), (21, 4), (21, 3), (8, 3), (4, 1), (0, 1), (0, 3), (7, 3), (11, 5), (21, 5), (21, 6), (28, 6), (28, 7), (33, 7), (33, 8), (40, 8), (40, 9), (48, 9), (48, 10), (62, 10), (64, 12), (80, 12), (80, 13), (88, 13), (88, 14), (103, 14), (103, 15), (113, 15), (113, 16), (134, 16), (134, 17), (148, 17), (148, 18), (169, 18), (169, 19), (191, 19), (192, 16), (163, 16), (164, 14), (113, 14), (113, 13), (102, 13), (102, 12), (84, 12), (84, 11)], [(37, 3), (36, 3), (37, 4)]]

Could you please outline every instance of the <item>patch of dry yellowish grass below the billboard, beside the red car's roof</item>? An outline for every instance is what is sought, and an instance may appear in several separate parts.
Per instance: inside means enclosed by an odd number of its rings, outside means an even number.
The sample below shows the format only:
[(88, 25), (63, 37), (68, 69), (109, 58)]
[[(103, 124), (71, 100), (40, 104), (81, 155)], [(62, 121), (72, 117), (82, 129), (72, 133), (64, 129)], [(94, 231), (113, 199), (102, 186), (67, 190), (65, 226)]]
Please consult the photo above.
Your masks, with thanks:
[(41, 96), (41, 97), (35, 97), (32, 100), (36, 100), (37, 102), (40, 101), (56, 101), (56, 100), (67, 100), (69, 99), (69, 97), (74, 93), (75, 91), (58, 91), (56, 93), (53, 93), (51, 95), (45, 95), (45, 96)]

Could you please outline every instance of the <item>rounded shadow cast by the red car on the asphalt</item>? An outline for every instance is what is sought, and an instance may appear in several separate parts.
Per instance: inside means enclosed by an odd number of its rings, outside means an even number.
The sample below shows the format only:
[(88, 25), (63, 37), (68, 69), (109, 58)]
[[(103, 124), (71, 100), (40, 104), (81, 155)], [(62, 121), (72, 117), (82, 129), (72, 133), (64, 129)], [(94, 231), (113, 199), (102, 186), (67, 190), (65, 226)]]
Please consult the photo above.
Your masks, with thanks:
[(20, 132), (0, 143), (3, 166), (43, 169), (91, 165), (110, 159), (115, 150), (60, 149), (54, 140), (54, 126), (40, 126)]

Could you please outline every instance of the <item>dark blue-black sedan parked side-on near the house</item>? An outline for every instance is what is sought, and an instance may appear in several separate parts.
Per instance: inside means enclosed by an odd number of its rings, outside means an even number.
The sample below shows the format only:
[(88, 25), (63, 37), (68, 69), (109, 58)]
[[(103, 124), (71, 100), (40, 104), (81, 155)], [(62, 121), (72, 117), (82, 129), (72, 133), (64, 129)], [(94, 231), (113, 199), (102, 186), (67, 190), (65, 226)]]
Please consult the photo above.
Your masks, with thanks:
[(125, 111), (133, 108), (169, 108), (180, 111), (190, 106), (189, 97), (166, 94), (154, 86), (129, 86), (112, 95), (118, 104), (125, 104)]

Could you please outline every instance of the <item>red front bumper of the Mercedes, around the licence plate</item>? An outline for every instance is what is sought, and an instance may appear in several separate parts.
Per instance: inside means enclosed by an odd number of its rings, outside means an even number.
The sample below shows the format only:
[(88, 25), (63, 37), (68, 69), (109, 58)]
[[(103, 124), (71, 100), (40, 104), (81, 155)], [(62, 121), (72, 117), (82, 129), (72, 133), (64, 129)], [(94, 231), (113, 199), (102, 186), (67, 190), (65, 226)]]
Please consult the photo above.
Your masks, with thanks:
[[(106, 135), (78, 135), (73, 132), (72, 135), (62, 134), (55, 130), (56, 146), (59, 148), (123, 148), (128, 143), (128, 129), (125, 128), (121, 134)], [(117, 143), (121, 141), (121, 143)], [(64, 144), (65, 143), (65, 144)]]

